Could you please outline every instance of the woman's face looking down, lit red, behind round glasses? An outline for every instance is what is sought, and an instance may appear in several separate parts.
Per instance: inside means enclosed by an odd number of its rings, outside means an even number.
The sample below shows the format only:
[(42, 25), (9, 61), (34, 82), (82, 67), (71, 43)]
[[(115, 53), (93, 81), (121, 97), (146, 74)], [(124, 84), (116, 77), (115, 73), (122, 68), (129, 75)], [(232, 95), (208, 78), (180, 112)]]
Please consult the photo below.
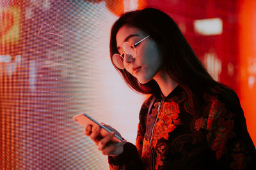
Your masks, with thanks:
[[(118, 52), (121, 54), (124, 51), (123, 43), (125, 41), (133, 45), (147, 36), (148, 34), (140, 29), (124, 25), (116, 34)], [(150, 37), (141, 41), (135, 48), (137, 55), (134, 59), (129, 59), (129, 57), (124, 55), (124, 66), (132, 76), (137, 78), (140, 83), (144, 84), (154, 78), (159, 72), (163, 57), (159, 48), (157, 48), (156, 42)]]

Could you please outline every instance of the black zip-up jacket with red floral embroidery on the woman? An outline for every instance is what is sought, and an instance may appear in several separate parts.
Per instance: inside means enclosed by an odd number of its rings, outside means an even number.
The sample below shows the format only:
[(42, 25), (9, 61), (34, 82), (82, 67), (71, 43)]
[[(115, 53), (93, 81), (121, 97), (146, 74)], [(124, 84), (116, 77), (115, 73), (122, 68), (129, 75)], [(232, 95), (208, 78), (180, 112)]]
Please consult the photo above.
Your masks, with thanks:
[(186, 88), (149, 97), (141, 107), (136, 146), (126, 143), (121, 155), (108, 157), (110, 169), (256, 169), (239, 99), (218, 95), (205, 101), (197, 114)]

